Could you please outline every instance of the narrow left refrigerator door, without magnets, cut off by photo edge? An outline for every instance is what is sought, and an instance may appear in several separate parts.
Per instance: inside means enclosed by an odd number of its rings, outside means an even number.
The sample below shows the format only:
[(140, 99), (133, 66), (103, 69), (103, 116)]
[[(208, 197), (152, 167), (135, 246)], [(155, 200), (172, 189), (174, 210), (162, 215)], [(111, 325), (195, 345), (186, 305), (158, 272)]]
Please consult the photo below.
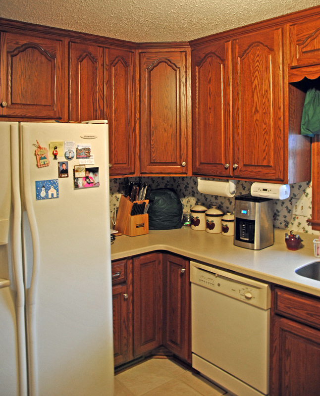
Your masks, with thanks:
[(27, 395), (18, 123), (1, 122), (0, 394)]

